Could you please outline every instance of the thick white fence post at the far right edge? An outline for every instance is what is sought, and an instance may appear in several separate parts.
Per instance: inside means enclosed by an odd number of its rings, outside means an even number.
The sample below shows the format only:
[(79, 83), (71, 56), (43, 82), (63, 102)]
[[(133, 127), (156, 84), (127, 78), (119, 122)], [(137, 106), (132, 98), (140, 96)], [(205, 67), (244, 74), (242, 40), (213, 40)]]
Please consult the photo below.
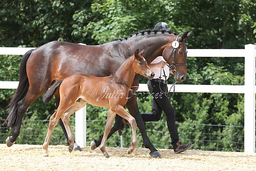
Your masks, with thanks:
[(244, 152), (255, 153), (255, 45), (245, 45)]

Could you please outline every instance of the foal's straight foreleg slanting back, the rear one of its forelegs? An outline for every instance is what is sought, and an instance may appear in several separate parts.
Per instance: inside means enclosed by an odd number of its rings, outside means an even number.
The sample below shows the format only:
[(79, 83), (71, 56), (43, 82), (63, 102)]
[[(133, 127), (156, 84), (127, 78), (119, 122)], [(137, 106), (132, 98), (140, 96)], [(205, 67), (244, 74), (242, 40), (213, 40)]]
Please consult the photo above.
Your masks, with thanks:
[(110, 133), (110, 130), (113, 125), (113, 121), (114, 121), (115, 117), (116, 117), (116, 114), (109, 109), (108, 118), (106, 118), (105, 131), (104, 131), (103, 138), (102, 138), (102, 141), (101, 141), (101, 144), (99, 147), (101, 152), (103, 153), (103, 155), (106, 158), (110, 157), (109, 154), (106, 153), (106, 149), (105, 149), (106, 139), (108, 138), (108, 135)]

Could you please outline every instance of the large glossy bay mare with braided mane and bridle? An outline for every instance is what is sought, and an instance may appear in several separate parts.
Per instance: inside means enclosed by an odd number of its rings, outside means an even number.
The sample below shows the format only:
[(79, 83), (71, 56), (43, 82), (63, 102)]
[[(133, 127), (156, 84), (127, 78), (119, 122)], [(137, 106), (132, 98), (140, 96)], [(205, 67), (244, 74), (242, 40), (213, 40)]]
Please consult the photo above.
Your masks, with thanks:
[[(182, 82), (186, 79), (186, 39), (191, 32), (185, 32), (179, 36), (172, 31), (146, 30), (136, 32), (123, 40), (111, 41), (96, 46), (84, 46), (70, 42), (52, 41), (34, 50), (25, 53), (20, 62), (19, 84), (10, 101), (10, 113), (7, 117), (8, 126), (12, 128), (12, 136), (6, 139), (7, 146), (12, 146), (20, 132), (22, 118), (28, 107), (44, 92), (51, 84), (73, 74), (87, 74), (98, 77), (109, 76), (117, 71), (127, 57), (132, 56), (136, 49), (148, 50), (144, 58), (151, 63), (157, 56), (162, 55), (170, 66), (175, 66), (174, 79)], [(180, 46), (176, 49), (172, 42), (177, 40)], [(160, 153), (148, 138), (145, 125), (140, 116), (135, 92), (139, 86), (139, 74), (134, 78), (131, 97), (126, 108), (136, 119), (144, 146), (150, 149), (150, 155), (160, 157)], [(59, 93), (54, 94), (56, 106), (59, 104)], [(61, 127), (64, 128), (60, 119)], [(109, 137), (122, 128), (122, 118), (117, 117), (111, 129)], [(66, 133), (66, 130), (63, 129)], [(66, 133), (67, 137), (67, 133)], [(96, 142), (99, 146), (101, 138)]]

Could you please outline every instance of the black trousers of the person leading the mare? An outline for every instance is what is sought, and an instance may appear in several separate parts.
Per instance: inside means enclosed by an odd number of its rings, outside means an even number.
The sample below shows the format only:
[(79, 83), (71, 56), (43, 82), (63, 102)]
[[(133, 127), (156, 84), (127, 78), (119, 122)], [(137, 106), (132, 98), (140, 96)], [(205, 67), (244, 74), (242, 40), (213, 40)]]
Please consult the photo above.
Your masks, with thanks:
[(175, 123), (176, 113), (173, 106), (170, 104), (169, 98), (162, 93), (159, 86), (162, 91), (167, 91), (167, 84), (153, 81), (147, 82), (148, 90), (153, 96), (152, 112), (143, 113), (141, 114), (141, 117), (144, 122), (159, 121), (161, 119), (162, 112), (164, 112), (167, 119), (170, 138), (172, 139), (172, 145), (174, 145), (179, 141), (179, 134)]

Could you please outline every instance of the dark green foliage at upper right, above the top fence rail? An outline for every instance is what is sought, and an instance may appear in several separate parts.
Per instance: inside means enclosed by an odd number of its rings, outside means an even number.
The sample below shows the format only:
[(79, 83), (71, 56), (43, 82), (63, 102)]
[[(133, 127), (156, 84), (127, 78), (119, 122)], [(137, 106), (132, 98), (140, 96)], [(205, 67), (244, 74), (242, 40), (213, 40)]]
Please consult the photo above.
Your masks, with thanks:
[[(173, 1), (172, 20), (194, 28), (193, 48), (232, 49), (254, 43), (254, 1)], [(254, 33), (254, 34), (253, 34)]]

